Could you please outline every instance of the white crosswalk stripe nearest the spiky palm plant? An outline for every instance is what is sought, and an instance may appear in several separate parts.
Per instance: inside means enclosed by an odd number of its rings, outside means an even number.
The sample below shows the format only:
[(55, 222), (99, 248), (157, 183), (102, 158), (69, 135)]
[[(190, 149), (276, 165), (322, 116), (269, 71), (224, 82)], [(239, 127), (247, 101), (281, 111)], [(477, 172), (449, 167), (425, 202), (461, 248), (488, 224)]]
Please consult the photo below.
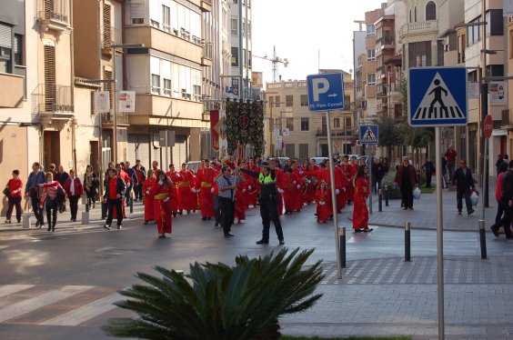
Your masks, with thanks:
[(90, 304), (83, 305), (77, 309), (67, 312), (64, 315), (59, 315), (50, 320), (46, 320), (39, 325), (80, 325), (97, 315), (102, 315), (113, 310), (116, 308), (116, 305), (113, 304), (122, 299), (123, 296), (117, 293), (107, 295)]

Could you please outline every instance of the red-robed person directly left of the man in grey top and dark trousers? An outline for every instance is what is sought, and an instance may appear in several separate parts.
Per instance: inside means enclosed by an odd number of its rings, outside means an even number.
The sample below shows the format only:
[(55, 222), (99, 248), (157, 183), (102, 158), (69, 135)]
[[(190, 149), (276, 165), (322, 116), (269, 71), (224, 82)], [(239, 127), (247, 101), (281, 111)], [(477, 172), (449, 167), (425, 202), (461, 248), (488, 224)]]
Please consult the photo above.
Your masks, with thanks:
[(210, 220), (216, 215), (214, 210), (214, 183), (216, 170), (210, 167), (208, 159), (203, 161), (203, 167), (196, 174), (196, 190), (199, 192), (201, 219)]

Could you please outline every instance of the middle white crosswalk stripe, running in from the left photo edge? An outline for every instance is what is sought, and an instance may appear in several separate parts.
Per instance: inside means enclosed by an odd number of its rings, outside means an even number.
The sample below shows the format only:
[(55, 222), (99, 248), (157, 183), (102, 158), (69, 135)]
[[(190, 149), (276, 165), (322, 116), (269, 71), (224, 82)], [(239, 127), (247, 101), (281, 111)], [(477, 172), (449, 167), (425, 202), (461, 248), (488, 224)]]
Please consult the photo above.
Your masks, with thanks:
[(7, 305), (0, 308), (0, 322), (34, 312), (36, 309), (45, 307), (45, 305), (54, 304), (67, 297), (84, 293), (91, 288), (93, 288), (91, 285), (65, 285), (61, 289), (36, 295), (13, 305)]

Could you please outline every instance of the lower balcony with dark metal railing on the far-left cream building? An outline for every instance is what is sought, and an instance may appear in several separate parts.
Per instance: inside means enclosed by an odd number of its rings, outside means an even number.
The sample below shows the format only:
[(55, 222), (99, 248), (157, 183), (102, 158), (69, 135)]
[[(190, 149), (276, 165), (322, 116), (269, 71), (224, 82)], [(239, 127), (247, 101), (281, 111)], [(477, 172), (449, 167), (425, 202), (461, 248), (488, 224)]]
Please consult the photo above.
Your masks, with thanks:
[(62, 113), (75, 111), (73, 89), (67, 85), (39, 84), (32, 93), (35, 113)]

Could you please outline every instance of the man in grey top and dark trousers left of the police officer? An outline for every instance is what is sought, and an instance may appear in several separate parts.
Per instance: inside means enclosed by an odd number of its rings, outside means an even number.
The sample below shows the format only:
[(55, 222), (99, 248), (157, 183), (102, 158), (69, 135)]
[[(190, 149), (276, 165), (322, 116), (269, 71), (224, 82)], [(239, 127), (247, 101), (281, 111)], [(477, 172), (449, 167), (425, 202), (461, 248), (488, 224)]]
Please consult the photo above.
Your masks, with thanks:
[(223, 175), (217, 177), (216, 181), (221, 204), (221, 226), (225, 237), (231, 238), (235, 236), (231, 233), (231, 226), (235, 218), (236, 176), (231, 175), (232, 169), (228, 165), (223, 165), (221, 173)]

